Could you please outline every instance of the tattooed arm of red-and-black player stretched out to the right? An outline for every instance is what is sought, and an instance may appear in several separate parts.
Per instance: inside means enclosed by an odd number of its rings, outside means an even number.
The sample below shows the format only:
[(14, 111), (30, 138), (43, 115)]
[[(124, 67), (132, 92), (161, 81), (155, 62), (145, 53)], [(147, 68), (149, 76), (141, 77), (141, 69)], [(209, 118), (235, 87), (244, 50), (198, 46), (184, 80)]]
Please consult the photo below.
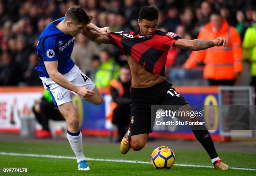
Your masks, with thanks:
[(226, 40), (223, 37), (218, 37), (215, 40), (186, 40), (186, 39), (178, 39), (174, 42), (174, 46), (182, 49), (191, 49), (193, 51), (199, 51), (207, 48), (211, 48), (213, 46), (226, 46)]

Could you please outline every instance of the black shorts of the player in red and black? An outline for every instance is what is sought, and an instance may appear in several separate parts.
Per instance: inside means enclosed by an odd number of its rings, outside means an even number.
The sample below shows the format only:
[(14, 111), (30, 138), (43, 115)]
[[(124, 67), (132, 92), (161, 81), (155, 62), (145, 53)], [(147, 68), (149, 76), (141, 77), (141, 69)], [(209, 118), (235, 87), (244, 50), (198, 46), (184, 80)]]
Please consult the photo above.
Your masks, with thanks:
[[(170, 90), (171, 89), (171, 90)], [(173, 93), (167, 93), (172, 91)], [(182, 96), (173, 96), (172, 84), (164, 81), (147, 88), (131, 88), (131, 135), (151, 133), (151, 105), (187, 105)]]

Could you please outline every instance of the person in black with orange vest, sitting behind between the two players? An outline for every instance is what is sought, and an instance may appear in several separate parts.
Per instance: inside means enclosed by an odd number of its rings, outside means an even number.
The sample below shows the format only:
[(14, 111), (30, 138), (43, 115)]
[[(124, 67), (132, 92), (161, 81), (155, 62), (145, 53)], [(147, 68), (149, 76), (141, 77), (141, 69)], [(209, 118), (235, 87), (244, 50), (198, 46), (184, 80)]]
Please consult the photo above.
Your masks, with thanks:
[(128, 65), (120, 69), (119, 79), (110, 81), (112, 102), (107, 119), (118, 126), (118, 141), (121, 141), (130, 124), (131, 114), (131, 70)]

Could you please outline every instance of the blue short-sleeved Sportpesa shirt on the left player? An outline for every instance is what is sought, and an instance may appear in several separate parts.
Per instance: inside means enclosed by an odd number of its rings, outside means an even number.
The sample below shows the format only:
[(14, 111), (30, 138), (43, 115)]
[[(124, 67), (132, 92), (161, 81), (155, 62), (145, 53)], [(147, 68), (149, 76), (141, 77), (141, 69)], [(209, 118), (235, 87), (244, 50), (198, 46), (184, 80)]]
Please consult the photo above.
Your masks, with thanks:
[(39, 77), (49, 78), (44, 61), (58, 61), (58, 71), (61, 74), (68, 73), (74, 66), (70, 58), (75, 38), (64, 34), (54, 23), (61, 22), (64, 17), (51, 22), (39, 36), (36, 46), (39, 64), (35, 68)]

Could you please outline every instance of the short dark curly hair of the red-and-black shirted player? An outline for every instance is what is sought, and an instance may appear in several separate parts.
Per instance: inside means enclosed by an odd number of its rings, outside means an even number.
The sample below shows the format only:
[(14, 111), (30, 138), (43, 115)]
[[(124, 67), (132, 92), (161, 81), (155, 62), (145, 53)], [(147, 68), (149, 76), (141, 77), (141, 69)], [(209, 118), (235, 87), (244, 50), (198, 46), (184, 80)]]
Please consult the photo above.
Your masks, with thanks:
[(139, 13), (140, 20), (145, 19), (148, 21), (158, 20), (158, 10), (155, 6), (143, 6)]

